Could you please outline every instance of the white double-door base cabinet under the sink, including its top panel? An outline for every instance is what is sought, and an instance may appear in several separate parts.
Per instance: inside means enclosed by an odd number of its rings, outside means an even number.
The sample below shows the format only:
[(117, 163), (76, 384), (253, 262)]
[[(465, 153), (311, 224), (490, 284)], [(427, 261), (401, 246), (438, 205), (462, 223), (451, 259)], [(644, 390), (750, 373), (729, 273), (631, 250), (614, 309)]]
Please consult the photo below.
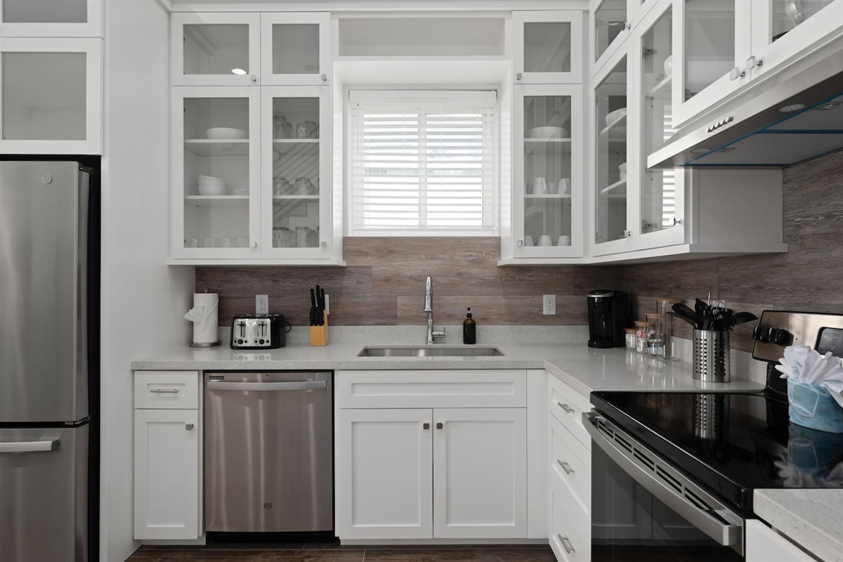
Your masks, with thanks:
[[(525, 372), (337, 373), (336, 534), (341, 540), (527, 538), (527, 409), (472, 408), (492, 377)], [(442, 393), (419, 377), (438, 375)], [(509, 395), (509, 384), (492, 388)], [(450, 392), (444, 388), (450, 388)], [(415, 388), (416, 396), (411, 396)], [(361, 402), (362, 394), (368, 398)], [(459, 395), (462, 396), (459, 396)], [(381, 407), (347, 408), (366, 403)], [(389, 408), (389, 404), (429, 407)], [(437, 407), (438, 405), (467, 407)]]

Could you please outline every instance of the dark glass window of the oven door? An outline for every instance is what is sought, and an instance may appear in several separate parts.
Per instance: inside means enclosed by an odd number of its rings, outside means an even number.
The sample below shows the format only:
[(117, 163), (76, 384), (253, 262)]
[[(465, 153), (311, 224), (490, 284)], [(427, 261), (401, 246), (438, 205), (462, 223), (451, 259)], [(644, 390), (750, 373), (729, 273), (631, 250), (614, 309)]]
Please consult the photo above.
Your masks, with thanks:
[(592, 561), (743, 560), (664, 505), (592, 444)]

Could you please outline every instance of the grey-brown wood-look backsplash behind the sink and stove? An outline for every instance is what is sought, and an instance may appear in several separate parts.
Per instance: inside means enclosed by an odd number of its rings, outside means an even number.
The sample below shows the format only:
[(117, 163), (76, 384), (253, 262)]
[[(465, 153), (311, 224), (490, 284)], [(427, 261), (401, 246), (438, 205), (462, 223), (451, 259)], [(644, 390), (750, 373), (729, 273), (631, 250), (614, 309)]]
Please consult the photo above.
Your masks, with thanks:
[[(268, 294), (271, 312), (307, 324), (309, 287), (330, 294), (332, 325), (423, 325), (424, 281), (433, 281), (437, 324), (460, 324), (465, 308), (478, 324), (587, 324), (585, 294), (624, 288), (636, 318), (656, 297), (725, 299), (729, 308), (843, 313), (843, 153), (785, 170), (787, 254), (642, 265), (498, 267), (500, 238), (345, 238), (346, 267), (197, 267), (196, 291), (220, 295), (219, 323), (255, 310)], [(541, 313), (556, 294), (556, 316)], [(754, 323), (735, 330), (732, 346), (749, 351)], [(690, 337), (678, 325), (676, 334)]]

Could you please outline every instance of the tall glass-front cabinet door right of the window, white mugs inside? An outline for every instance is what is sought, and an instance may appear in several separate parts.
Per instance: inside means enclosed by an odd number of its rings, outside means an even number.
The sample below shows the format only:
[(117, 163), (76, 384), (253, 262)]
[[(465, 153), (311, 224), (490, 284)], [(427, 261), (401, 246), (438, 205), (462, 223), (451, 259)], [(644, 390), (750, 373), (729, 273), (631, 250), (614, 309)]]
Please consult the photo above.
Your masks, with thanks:
[(581, 256), (582, 89), (517, 87), (514, 106), (513, 256)]

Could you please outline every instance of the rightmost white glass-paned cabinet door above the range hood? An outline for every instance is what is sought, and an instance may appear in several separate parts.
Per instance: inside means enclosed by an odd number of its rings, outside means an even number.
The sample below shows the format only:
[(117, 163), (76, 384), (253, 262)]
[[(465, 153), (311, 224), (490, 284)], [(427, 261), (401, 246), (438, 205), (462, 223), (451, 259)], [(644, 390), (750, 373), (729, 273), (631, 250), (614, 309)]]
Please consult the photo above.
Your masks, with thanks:
[(752, 0), (752, 79), (843, 35), (843, 0)]

